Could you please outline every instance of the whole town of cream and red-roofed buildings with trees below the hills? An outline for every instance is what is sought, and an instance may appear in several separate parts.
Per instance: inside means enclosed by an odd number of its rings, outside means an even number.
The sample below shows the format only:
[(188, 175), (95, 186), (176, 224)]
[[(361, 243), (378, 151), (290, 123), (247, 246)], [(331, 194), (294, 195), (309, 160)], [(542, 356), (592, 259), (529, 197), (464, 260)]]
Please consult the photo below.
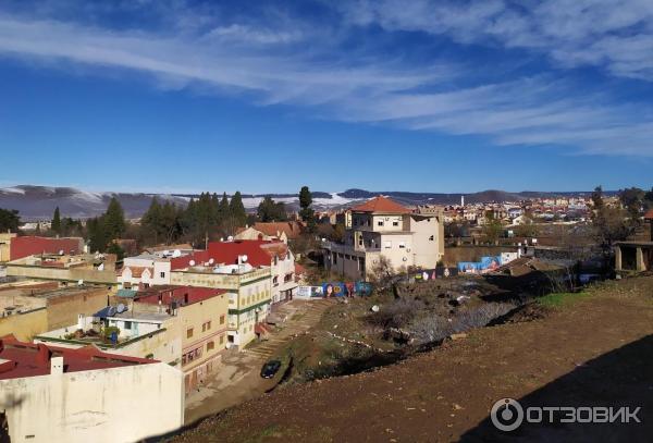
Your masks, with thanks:
[[(531, 276), (545, 295), (652, 264), (653, 192), (637, 188), (505, 202), (463, 197), (442, 207), (379, 195), (324, 212), (312, 209), (308, 187), (298, 196), (298, 211), (267, 197), (249, 213), (238, 194), (205, 193), (186, 208), (152, 197), (131, 220), (115, 197), (87, 220), (56, 208), (50, 220), (22, 222), (2, 209), (0, 399), (13, 405), (3, 406), (4, 432), (12, 441), (174, 433), (283, 384), (293, 367), (280, 353), (298, 334), (325, 310), (343, 309), (335, 300), (365, 300), (389, 282), (396, 292), (397, 282), (414, 291), (429, 280)], [(457, 294), (456, 305), (469, 294)], [(309, 312), (312, 322), (298, 320)], [(395, 328), (410, 335), (407, 324)], [(239, 379), (207, 387), (236, 366), (246, 367)], [(251, 391), (221, 402), (244, 385)], [(88, 390), (100, 394), (89, 398)]]

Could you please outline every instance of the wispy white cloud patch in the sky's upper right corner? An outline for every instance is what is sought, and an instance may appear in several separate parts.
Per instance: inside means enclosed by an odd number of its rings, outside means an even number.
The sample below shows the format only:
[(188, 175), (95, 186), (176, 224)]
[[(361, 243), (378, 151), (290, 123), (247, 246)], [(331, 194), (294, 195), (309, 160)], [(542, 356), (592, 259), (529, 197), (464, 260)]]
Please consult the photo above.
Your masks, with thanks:
[(618, 76), (653, 81), (650, 0), (360, 0), (338, 4), (346, 20), (357, 25), (423, 32), (461, 44), (523, 48), (544, 53), (562, 66), (601, 66)]

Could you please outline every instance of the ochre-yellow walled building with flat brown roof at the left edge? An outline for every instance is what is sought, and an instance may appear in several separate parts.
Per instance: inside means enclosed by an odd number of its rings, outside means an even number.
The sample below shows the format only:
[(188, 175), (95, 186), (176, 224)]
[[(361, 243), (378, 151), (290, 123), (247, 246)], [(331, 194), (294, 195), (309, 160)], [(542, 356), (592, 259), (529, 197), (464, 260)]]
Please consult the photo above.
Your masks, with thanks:
[(20, 340), (32, 340), (53, 329), (77, 321), (107, 306), (107, 286), (70, 286), (33, 288), (12, 285), (0, 290), (0, 335), (13, 333)]

